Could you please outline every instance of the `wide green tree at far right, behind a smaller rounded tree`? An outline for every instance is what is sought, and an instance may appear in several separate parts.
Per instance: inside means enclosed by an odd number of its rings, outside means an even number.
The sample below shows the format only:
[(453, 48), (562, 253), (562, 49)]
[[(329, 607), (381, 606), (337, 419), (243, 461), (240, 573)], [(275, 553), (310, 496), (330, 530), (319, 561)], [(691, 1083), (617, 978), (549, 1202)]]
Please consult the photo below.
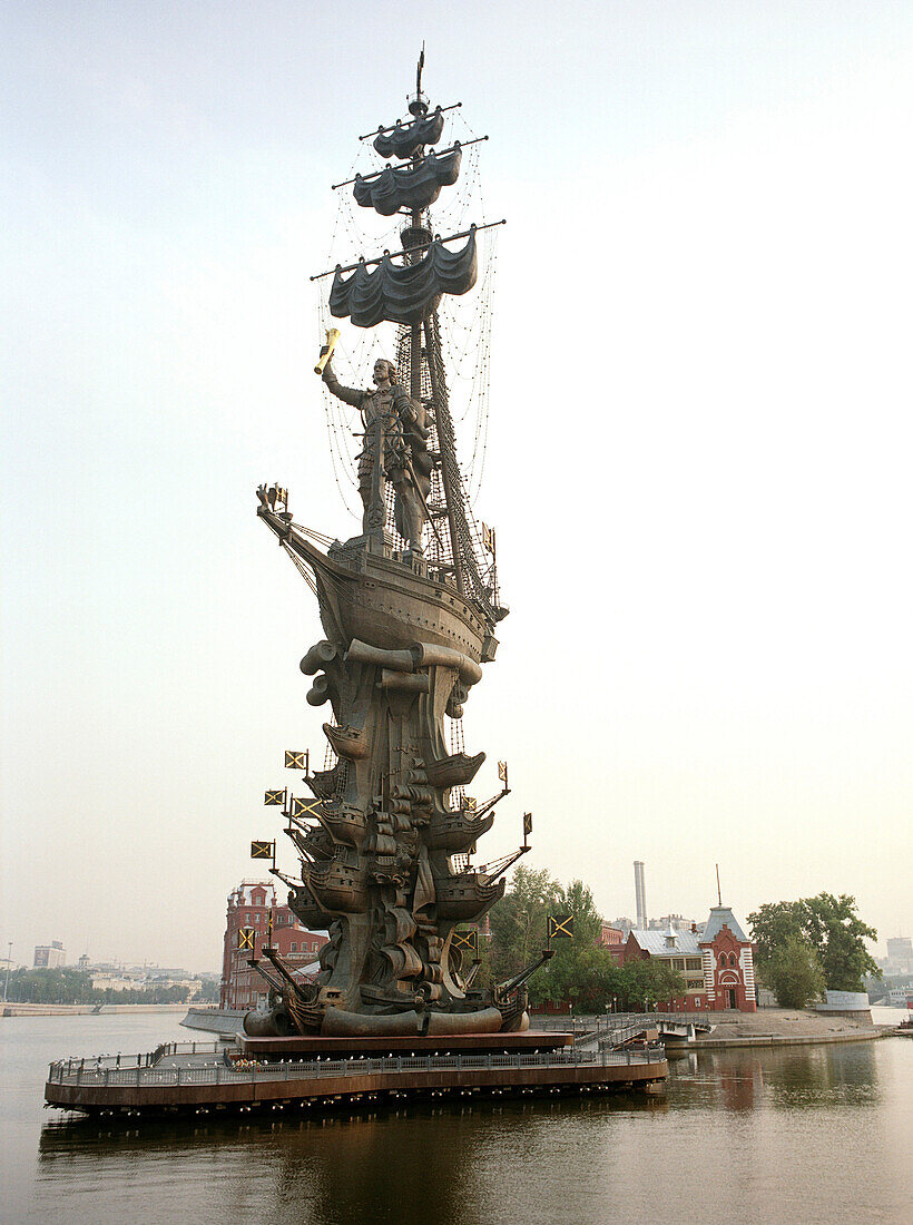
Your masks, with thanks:
[[(831, 991), (862, 991), (866, 974), (880, 975), (865, 947), (877, 932), (855, 913), (855, 898), (819, 893), (798, 902), (768, 902), (748, 916), (757, 944), (757, 968), (763, 981), (768, 964), (779, 964), (787, 944), (804, 940), (815, 952)], [(793, 948), (792, 957), (797, 953)], [(771, 989), (773, 990), (773, 989)]]

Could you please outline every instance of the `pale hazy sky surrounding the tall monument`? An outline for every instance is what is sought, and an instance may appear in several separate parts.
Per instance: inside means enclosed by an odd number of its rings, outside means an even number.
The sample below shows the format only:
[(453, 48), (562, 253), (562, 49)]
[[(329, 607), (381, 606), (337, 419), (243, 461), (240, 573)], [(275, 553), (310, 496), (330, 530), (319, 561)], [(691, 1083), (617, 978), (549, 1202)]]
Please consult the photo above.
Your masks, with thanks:
[(357, 529), (308, 276), (423, 38), (509, 218), (477, 510), (512, 614), (464, 724), (515, 794), (480, 858), (532, 809), (529, 861), (607, 918), (642, 859), (653, 915), (706, 918), (719, 862), (741, 919), (827, 889), (879, 952), (913, 930), (913, 7), (0, 22), (0, 953), (217, 968), (263, 789), (322, 755), (316, 605), (254, 490)]

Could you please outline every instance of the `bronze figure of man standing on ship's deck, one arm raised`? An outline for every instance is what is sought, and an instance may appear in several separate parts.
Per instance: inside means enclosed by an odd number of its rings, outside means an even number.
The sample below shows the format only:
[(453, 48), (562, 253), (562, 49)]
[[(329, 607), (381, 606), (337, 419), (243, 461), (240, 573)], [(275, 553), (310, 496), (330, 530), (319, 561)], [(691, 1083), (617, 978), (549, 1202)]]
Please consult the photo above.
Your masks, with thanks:
[[(333, 374), (332, 358), (324, 366), (322, 377), (333, 396), (362, 413), (364, 447), (358, 458), (358, 491), (364, 506), (362, 530), (368, 533), (384, 526), (381, 481), (388, 480), (396, 495), (396, 530), (406, 540), (408, 551), (420, 557), (433, 468), (424, 404), (412, 399), (406, 388), (393, 381), (396, 366), (385, 358), (374, 363), (373, 391), (343, 387)], [(380, 468), (375, 457), (380, 459)]]

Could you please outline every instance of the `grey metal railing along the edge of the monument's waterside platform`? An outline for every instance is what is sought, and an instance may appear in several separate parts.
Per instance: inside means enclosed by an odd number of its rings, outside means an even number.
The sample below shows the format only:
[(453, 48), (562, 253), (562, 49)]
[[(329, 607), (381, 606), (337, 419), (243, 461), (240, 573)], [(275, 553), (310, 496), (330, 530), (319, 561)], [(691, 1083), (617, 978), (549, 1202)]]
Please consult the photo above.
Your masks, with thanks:
[[(129, 1066), (121, 1058), (120, 1066), (118, 1066), (116, 1062), (112, 1062), (112, 1056), (107, 1056), (100, 1063), (97, 1060), (56, 1060), (49, 1067), (48, 1082), (51, 1084), (135, 1085), (141, 1088), (145, 1085), (241, 1084), (251, 1080), (263, 1083), (317, 1080), (328, 1077), (352, 1077), (382, 1072), (471, 1072), (500, 1068), (615, 1067), (625, 1065), (630, 1067), (665, 1061), (663, 1047), (652, 1045), (641, 1051), (581, 1051), (572, 1047), (543, 1054), (392, 1055), (384, 1058), (364, 1056), (344, 1060), (287, 1060), (278, 1063), (239, 1061), (227, 1065), (214, 1057), (218, 1050), (217, 1044), (213, 1044), (212, 1051), (205, 1050), (203, 1047), (207, 1047), (208, 1044), (202, 1042), (173, 1045), (196, 1046), (195, 1052), (174, 1051), (175, 1056), (195, 1054), (199, 1058), (201, 1055), (212, 1054), (213, 1062), (189, 1063), (184, 1058), (181, 1062), (159, 1060), (151, 1066), (145, 1062)], [(137, 1056), (137, 1058), (145, 1060), (145, 1056)]]

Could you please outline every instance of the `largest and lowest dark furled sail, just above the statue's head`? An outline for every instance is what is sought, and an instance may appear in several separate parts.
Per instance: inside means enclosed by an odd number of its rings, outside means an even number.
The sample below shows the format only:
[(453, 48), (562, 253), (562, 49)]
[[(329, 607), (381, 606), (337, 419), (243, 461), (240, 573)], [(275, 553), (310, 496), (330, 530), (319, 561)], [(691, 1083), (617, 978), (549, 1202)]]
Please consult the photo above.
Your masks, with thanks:
[(418, 263), (401, 267), (385, 255), (373, 271), (360, 265), (349, 277), (337, 272), (330, 290), (330, 314), (350, 318), (355, 327), (376, 327), (385, 320), (420, 323), (438, 309), (442, 294), (468, 293), (477, 274), (473, 228), (460, 251), (449, 251), (436, 240)]

